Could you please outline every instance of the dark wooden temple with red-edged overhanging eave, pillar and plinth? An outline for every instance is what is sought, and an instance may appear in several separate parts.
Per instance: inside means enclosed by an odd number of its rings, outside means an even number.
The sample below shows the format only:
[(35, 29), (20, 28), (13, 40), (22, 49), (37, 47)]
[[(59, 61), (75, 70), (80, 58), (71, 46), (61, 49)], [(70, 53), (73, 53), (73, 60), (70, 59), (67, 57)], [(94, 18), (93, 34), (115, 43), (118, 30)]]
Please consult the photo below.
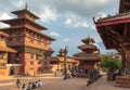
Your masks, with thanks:
[(125, 75), (116, 79), (116, 86), (130, 87), (130, 0), (120, 0), (118, 14), (94, 23), (106, 49), (121, 54)]

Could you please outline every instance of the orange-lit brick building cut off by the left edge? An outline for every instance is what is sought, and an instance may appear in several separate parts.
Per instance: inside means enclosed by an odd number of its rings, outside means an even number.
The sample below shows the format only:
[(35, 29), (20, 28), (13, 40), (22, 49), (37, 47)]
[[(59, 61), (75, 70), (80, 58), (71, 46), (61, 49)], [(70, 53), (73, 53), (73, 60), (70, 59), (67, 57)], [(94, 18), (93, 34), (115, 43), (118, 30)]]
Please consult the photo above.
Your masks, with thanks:
[(9, 76), (12, 74), (11, 65), (8, 64), (8, 54), (16, 53), (16, 50), (6, 47), (6, 37), (9, 37), (8, 34), (0, 31), (0, 76)]

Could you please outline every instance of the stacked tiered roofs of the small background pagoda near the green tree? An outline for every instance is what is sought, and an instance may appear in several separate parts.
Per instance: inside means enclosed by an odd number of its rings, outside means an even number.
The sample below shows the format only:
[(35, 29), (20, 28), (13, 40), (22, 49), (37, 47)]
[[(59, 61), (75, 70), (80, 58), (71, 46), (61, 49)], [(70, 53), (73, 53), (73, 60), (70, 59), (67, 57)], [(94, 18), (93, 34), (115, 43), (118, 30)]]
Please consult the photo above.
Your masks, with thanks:
[(82, 52), (75, 54), (75, 59), (78, 61), (87, 61), (87, 62), (99, 62), (101, 59), (98, 56), (95, 51), (99, 51), (98, 47), (93, 43), (95, 42), (92, 38), (88, 37), (81, 40), (83, 46), (79, 46), (78, 48), (82, 50)]

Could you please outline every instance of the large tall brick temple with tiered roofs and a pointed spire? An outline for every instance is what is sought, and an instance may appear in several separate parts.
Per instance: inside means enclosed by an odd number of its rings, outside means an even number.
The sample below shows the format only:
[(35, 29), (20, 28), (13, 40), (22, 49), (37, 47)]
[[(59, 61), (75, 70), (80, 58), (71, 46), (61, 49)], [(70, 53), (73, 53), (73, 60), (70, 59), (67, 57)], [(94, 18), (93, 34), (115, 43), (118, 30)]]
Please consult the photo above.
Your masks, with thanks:
[[(2, 20), (0, 22), (10, 25), (10, 27), (0, 30), (8, 34), (6, 44), (17, 51), (16, 54), (9, 54), (9, 63), (14, 68), (14, 64), (21, 64), (21, 74), (36, 75), (42, 67), (42, 61), (53, 53), (50, 44), (55, 39), (41, 33), (47, 27), (35, 22), (39, 17), (25, 9), (12, 12), (17, 17), (12, 20)], [(16, 69), (14, 70), (16, 74)]]

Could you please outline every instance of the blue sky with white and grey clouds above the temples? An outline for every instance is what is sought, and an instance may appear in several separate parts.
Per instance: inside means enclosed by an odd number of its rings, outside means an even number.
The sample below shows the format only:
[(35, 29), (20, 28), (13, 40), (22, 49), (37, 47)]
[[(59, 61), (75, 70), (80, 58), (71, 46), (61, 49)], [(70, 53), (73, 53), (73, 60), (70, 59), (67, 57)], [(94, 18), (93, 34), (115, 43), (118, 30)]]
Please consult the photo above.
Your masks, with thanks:
[[(81, 52), (77, 47), (88, 36), (95, 40), (102, 54), (116, 52), (105, 49), (92, 18), (118, 13), (119, 0), (0, 0), (0, 20), (16, 17), (11, 12), (24, 9), (26, 2), (29, 11), (40, 17), (36, 22), (48, 28), (42, 33), (56, 39), (51, 43), (53, 55), (65, 46), (68, 55)], [(6, 26), (0, 23), (0, 28)]]

